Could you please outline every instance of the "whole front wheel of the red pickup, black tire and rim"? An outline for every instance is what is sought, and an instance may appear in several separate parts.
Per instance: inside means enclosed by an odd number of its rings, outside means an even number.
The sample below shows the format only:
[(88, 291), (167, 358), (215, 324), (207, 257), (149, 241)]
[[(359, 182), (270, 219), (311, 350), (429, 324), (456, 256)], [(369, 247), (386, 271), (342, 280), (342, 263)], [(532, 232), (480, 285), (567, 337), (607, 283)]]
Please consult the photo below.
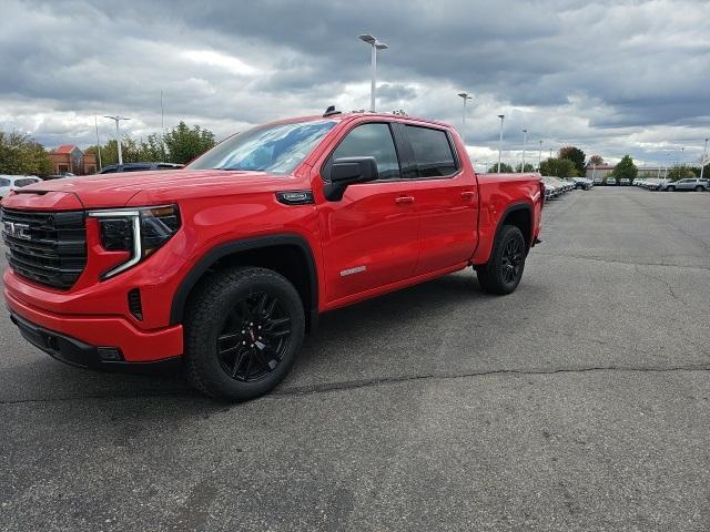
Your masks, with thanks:
[(256, 267), (217, 272), (187, 308), (187, 380), (216, 399), (262, 396), (288, 374), (304, 334), (303, 303), (285, 277)]

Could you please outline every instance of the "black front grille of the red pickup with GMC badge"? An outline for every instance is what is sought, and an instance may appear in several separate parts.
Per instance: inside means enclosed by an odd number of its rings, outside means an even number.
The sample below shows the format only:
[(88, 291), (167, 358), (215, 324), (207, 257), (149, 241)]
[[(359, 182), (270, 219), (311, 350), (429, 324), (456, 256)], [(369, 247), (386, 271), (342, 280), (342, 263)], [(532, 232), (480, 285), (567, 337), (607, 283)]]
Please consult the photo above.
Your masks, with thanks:
[(12, 270), (59, 290), (69, 290), (87, 266), (87, 226), (82, 211), (0, 211)]

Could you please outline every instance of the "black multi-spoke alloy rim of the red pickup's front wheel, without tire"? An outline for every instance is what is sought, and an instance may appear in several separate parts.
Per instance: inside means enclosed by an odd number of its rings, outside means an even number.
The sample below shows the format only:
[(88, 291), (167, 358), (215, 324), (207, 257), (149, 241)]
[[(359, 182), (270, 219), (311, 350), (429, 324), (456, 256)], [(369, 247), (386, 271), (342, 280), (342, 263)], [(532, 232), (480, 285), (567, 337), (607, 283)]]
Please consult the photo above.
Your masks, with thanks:
[(290, 340), (291, 316), (278, 297), (250, 294), (222, 323), (216, 340), (220, 365), (235, 380), (260, 380), (281, 364)]

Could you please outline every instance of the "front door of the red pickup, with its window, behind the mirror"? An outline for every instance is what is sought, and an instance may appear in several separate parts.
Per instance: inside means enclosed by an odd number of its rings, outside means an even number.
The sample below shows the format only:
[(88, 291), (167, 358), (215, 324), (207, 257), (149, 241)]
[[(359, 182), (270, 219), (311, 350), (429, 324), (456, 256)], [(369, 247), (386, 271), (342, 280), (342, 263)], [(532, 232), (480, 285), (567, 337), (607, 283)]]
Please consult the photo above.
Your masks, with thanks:
[(328, 181), (332, 161), (364, 156), (375, 157), (378, 180), (349, 185), (342, 200), (318, 204), (327, 303), (347, 303), (407, 279), (417, 262), (418, 216), (390, 123), (351, 129), (321, 167), (321, 178)]

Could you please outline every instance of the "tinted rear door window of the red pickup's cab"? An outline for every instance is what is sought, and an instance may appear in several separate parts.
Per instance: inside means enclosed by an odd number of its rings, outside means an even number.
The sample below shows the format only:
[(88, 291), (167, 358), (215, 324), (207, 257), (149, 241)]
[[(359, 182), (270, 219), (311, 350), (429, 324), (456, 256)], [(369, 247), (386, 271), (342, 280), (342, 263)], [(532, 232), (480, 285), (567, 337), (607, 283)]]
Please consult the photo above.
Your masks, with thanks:
[(407, 136), (420, 177), (443, 177), (456, 173), (458, 165), (445, 131), (407, 125)]

